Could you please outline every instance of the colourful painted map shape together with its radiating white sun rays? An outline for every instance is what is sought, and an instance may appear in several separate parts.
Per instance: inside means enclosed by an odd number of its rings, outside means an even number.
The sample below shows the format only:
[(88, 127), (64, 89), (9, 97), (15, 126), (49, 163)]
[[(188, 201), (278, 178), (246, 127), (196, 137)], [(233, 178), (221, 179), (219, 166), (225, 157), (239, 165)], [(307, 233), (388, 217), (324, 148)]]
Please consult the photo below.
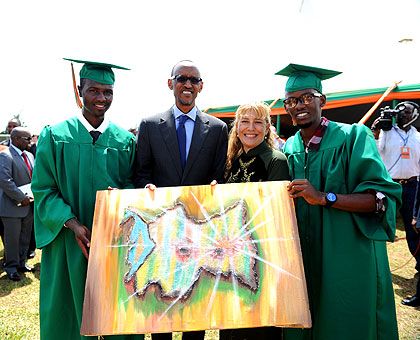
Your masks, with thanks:
[[(253, 291), (258, 289), (258, 262), (299, 279), (259, 256), (258, 243), (288, 240), (255, 239), (253, 233), (272, 222), (273, 217), (256, 226), (253, 226), (252, 221), (264, 206), (270, 203), (274, 194), (266, 197), (255, 214), (248, 218), (247, 204), (244, 200), (246, 189), (247, 186), (239, 200), (228, 204), (227, 207), (219, 195), (219, 211), (212, 215), (190, 191), (189, 194), (198, 205), (203, 220), (190, 216), (182, 202), (169, 208), (159, 207), (161, 213), (156, 216), (135, 208), (126, 208), (121, 222), (121, 227), (125, 229), (126, 242), (122, 246), (129, 247), (126, 259), (130, 270), (125, 275), (125, 283), (133, 281), (134, 293), (125, 302), (135, 296), (144, 295), (151, 285), (158, 285), (162, 298), (174, 299), (160, 316), (162, 318), (176, 302), (190, 296), (202, 272), (207, 272), (215, 278), (206, 309), (208, 315), (222, 276), (225, 280), (230, 280), (235, 296), (238, 283)], [(156, 261), (159, 263), (159, 272), (147, 268), (138, 273), (142, 266), (148, 266), (148, 262), (155, 265)], [(133, 280), (135, 274), (136, 279)]]

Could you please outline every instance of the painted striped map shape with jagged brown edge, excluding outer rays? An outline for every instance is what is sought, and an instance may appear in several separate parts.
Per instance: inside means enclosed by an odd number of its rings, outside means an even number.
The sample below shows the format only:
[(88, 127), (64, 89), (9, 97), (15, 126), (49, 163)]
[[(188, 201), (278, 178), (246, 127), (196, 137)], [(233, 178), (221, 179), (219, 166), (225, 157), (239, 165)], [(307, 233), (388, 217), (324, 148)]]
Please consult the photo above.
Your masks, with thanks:
[[(186, 299), (206, 272), (213, 276), (220, 273), (225, 278), (235, 275), (243, 286), (257, 290), (259, 278), (254, 255), (258, 254), (258, 247), (252, 242), (252, 235), (238, 237), (235, 243), (229, 241), (229, 234), (233, 233), (229, 229), (245, 223), (246, 207), (235, 202), (224, 211), (224, 215), (217, 213), (197, 220), (178, 202), (146, 222), (141, 212), (126, 209), (122, 223), (122, 227), (126, 227), (124, 243), (130, 244), (130, 240), (135, 239), (146, 241), (145, 245), (131, 243), (133, 246), (127, 251), (130, 270), (125, 276), (126, 283), (132, 281), (139, 296), (145, 294), (149, 286), (158, 285), (162, 298)], [(132, 279), (134, 273), (135, 280)]]

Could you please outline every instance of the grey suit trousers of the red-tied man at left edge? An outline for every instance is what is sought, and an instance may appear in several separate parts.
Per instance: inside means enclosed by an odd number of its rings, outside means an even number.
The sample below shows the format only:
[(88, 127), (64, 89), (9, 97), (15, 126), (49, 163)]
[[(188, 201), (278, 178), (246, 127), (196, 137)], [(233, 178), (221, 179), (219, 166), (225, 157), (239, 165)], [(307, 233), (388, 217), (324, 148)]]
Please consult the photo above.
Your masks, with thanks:
[(25, 217), (1, 217), (4, 224), (4, 269), (8, 274), (17, 272), (25, 265), (31, 240), (33, 213), (29, 210)]

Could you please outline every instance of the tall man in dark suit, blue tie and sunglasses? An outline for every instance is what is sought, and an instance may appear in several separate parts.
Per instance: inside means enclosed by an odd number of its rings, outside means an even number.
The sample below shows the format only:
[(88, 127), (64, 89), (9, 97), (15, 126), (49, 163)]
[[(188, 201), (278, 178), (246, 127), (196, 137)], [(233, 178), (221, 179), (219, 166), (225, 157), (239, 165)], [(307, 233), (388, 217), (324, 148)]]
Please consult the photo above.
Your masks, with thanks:
[[(227, 152), (227, 126), (202, 113), (195, 105), (203, 89), (200, 71), (193, 62), (177, 63), (168, 79), (175, 105), (145, 118), (137, 134), (134, 185), (205, 185), (222, 181)], [(185, 339), (203, 339), (204, 332), (186, 332)], [(171, 333), (153, 334), (153, 340), (171, 339)]]

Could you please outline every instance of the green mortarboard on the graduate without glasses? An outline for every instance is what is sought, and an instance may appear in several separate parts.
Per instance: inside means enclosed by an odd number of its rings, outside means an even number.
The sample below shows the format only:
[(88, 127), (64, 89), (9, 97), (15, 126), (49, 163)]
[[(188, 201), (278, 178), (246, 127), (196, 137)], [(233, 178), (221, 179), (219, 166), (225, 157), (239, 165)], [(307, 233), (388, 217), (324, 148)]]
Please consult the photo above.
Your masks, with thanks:
[(80, 70), (80, 79), (90, 79), (96, 81), (97, 83), (113, 85), (115, 82), (113, 68), (118, 68), (121, 70), (129, 70), (129, 68), (121, 67), (112, 64), (98, 63), (95, 61), (85, 61), (85, 60), (75, 60), (67, 59), (64, 60), (73, 61), (75, 63), (84, 64)]

